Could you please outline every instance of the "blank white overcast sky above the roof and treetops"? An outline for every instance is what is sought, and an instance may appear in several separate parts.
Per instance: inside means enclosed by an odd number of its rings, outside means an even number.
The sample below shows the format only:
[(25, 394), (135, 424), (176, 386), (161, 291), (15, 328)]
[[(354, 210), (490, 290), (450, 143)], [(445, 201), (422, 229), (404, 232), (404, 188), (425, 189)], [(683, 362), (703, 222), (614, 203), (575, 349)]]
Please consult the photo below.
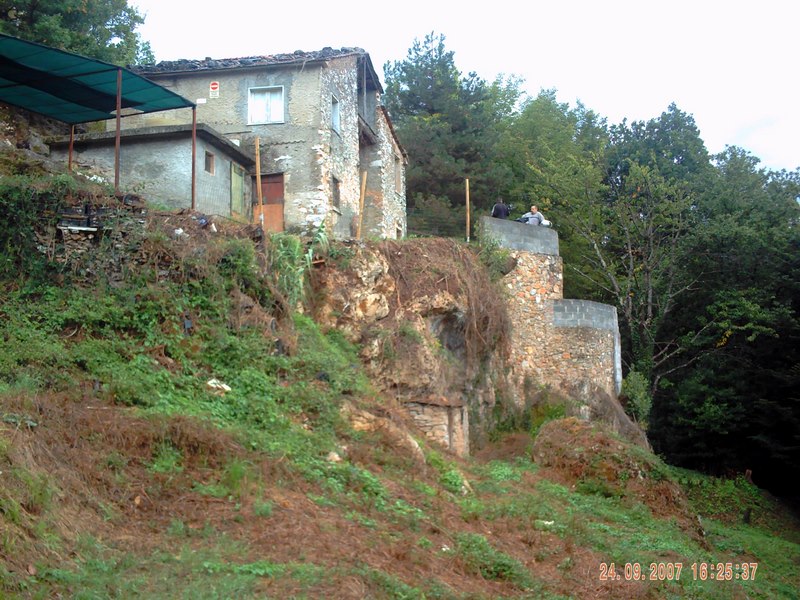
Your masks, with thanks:
[(383, 80), (415, 38), (445, 35), (462, 73), (519, 75), (615, 124), (675, 102), (712, 153), (745, 148), (800, 168), (797, 0), (129, 0), (156, 60), (234, 58), (357, 46)]

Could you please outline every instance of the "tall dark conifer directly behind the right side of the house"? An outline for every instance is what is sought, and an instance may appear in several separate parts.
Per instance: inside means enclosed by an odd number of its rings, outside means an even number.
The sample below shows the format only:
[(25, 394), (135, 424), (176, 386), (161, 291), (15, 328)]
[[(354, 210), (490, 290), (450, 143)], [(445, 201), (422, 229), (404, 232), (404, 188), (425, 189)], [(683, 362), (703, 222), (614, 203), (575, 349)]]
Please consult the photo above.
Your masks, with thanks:
[(464, 204), (470, 179), (473, 205), (491, 207), (508, 172), (496, 160), (498, 141), (521, 95), (516, 78), (487, 84), (475, 73), (462, 76), (445, 37), (415, 40), (405, 60), (384, 65), (384, 102), (408, 150), (409, 206), (417, 198), (447, 198)]

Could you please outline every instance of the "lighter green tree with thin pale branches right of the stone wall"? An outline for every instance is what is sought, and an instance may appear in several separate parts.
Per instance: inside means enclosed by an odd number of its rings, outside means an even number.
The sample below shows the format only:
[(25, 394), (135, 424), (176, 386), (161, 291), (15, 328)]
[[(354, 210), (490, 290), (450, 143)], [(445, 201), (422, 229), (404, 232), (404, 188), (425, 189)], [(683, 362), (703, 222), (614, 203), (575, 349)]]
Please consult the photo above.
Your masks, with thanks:
[(588, 252), (573, 268), (613, 298), (625, 331), (628, 369), (657, 387), (662, 368), (681, 351), (662, 326), (690, 281), (682, 270), (692, 196), (657, 169), (629, 163), (627, 175), (599, 202), (574, 213)]

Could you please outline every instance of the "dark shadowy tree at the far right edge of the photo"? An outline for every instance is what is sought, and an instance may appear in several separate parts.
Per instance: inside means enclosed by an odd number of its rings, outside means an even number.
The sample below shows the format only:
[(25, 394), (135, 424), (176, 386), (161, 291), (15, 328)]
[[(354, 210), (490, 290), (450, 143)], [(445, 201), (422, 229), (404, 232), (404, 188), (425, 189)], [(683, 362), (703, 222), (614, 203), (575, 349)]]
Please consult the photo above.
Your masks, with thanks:
[(800, 476), (800, 171), (758, 163), (729, 147), (696, 198), (683, 264), (695, 284), (665, 333), (684, 335), (684, 352), (657, 390), (651, 441), (672, 462), (751, 469), (789, 491)]

